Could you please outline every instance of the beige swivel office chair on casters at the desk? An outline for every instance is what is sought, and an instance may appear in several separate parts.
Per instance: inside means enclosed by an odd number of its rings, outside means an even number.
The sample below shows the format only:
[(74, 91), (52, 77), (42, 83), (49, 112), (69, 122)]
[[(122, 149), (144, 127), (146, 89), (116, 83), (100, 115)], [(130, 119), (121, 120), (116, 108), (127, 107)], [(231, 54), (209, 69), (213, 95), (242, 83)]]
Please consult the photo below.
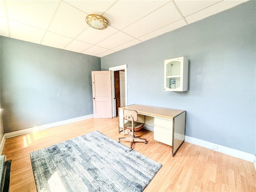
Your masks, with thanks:
[[(124, 120), (128, 120), (128, 122), (124, 123)], [(144, 128), (144, 123), (136, 122), (137, 120), (138, 120), (137, 111), (124, 109), (124, 116), (123, 116), (124, 134), (130, 135), (130, 137), (120, 137), (118, 142), (130, 141), (131, 146), (129, 151), (132, 150), (132, 144), (134, 142), (144, 142), (145, 144), (148, 143), (146, 139), (138, 138), (134, 135), (135, 132)]]

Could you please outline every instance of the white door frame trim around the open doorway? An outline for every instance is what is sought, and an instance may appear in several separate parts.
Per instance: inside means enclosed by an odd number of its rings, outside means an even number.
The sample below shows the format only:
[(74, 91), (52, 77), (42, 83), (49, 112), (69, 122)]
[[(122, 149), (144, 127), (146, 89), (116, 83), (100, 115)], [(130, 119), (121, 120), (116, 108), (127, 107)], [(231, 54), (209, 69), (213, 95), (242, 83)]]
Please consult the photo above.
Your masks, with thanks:
[(124, 70), (124, 84), (125, 84), (125, 105), (128, 104), (127, 99), (127, 64), (110, 67), (108, 68), (111, 71), (111, 92), (112, 92), (112, 117), (116, 116), (116, 102), (115, 102), (115, 86), (114, 86), (114, 71)]

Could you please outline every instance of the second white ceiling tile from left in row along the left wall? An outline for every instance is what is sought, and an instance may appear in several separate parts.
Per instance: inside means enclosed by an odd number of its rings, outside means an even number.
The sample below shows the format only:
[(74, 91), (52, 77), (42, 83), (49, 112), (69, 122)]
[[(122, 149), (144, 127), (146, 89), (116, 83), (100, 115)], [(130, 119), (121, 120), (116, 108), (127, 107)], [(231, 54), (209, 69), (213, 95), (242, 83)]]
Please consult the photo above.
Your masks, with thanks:
[(40, 43), (45, 30), (9, 20), (10, 37), (32, 43)]

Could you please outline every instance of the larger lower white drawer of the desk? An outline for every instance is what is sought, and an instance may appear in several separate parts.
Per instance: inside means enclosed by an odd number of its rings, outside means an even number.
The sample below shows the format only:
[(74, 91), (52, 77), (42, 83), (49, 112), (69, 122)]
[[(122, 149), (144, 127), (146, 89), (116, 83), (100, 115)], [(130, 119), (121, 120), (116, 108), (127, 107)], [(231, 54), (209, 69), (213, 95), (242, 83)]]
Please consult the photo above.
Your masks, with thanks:
[(172, 146), (172, 130), (154, 126), (154, 140)]

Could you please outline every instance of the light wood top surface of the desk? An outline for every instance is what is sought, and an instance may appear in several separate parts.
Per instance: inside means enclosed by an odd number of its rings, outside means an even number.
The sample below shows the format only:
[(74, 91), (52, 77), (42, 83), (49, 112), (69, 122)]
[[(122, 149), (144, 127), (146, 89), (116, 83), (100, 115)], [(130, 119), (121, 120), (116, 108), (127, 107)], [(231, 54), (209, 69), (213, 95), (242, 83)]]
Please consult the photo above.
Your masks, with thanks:
[(179, 114), (185, 112), (183, 110), (168, 109), (162, 107), (151, 107), (137, 104), (120, 107), (120, 109), (136, 110), (138, 114), (145, 114), (149, 116), (157, 116), (168, 119), (173, 119)]

